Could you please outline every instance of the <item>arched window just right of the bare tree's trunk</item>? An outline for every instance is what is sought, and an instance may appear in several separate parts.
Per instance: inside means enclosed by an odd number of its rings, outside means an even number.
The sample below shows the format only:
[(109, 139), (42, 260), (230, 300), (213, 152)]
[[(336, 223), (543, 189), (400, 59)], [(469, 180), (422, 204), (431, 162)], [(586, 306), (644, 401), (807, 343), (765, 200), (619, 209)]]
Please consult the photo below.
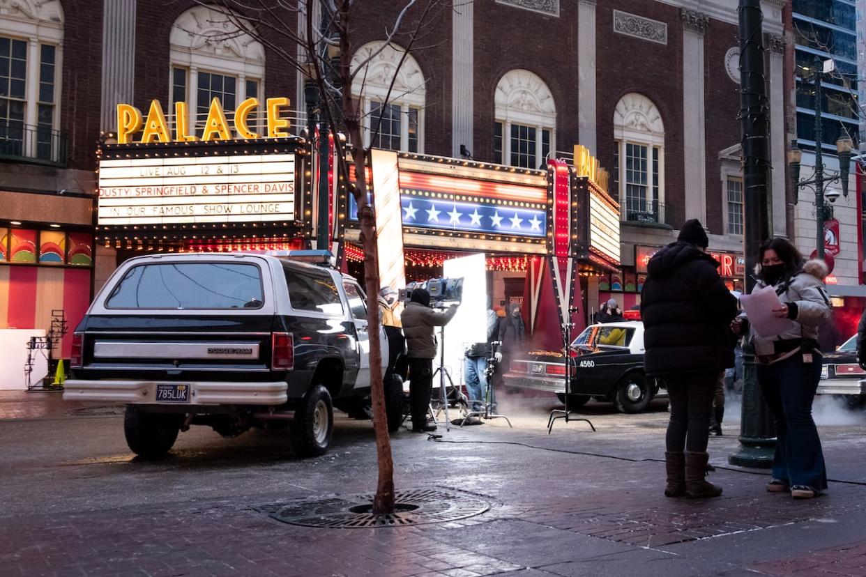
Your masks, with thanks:
[[(403, 58), (403, 48), (393, 42), (384, 44), (368, 42), (352, 56), (352, 71), (361, 68), (352, 81), (352, 96), (361, 102), (364, 144), (391, 151), (423, 152), (424, 75), (411, 54)], [(372, 138), (380, 118), (378, 135)]]

